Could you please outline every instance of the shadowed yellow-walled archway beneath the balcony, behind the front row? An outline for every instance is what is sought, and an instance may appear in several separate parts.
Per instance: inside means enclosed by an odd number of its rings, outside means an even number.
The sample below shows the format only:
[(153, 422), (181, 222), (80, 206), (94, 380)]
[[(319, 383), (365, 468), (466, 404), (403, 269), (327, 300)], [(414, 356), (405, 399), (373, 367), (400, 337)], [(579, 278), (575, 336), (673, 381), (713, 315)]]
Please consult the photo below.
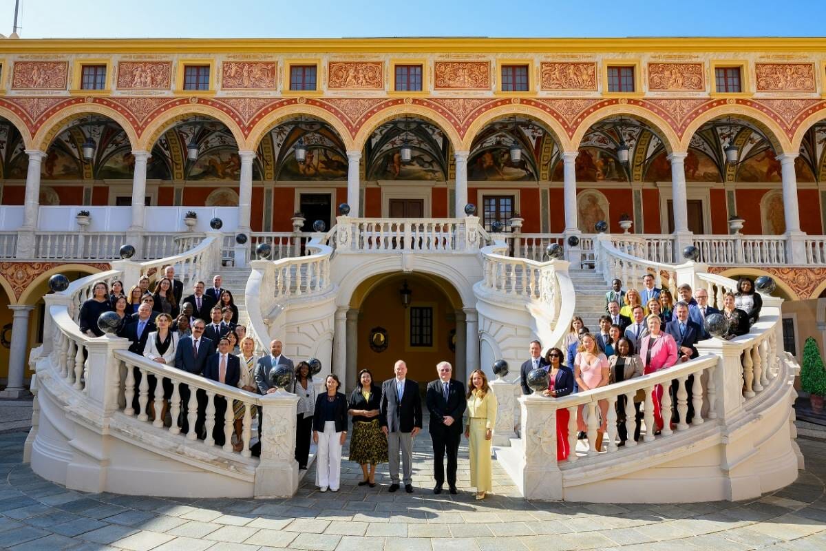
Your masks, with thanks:
[(408, 377), (422, 389), (436, 378), (436, 363), (443, 360), (453, 365), (454, 378), (465, 378), (462, 301), (447, 280), (422, 273), (373, 276), (354, 292), (348, 317), (355, 321), (358, 336), (347, 387), (363, 368), (370, 369), (377, 382), (392, 378), (398, 359), (405, 360)]

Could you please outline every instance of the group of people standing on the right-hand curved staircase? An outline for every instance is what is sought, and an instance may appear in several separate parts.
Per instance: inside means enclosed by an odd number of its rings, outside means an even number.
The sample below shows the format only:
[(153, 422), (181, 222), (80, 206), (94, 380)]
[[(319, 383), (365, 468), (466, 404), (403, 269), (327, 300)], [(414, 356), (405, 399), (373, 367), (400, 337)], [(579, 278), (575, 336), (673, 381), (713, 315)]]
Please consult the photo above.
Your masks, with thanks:
[[(705, 288), (692, 293), (690, 285), (682, 284), (677, 287), (677, 293), (679, 300), (674, 302), (671, 292), (654, 285), (654, 277), (650, 273), (644, 276), (640, 290), (624, 290), (622, 282), (615, 279), (610, 290), (605, 292), (605, 315), (600, 317), (598, 331), (591, 332), (580, 316), (574, 316), (562, 349), (553, 347), (543, 355), (542, 344), (537, 340), (531, 342), (530, 359), (521, 366), (522, 392), (533, 392), (528, 386), (528, 373), (535, 368), (548, 371), (548, 388), (543, 391), (546, 397), (563, 397), (572, 392), (605, 387), (670, 368), (678, 362), (697, 357), (697, 342), (710, 338), (705, 327), (707, 316), (719, 313), (729, 321), (729, 329), (722, 336), (730, 340), (748, 333), (762, 308), (760, 294), (755, 292), (754, 282), (749, 278), (740, 278), (737, 292), (725, 293), (722, 311), (709, 305), (709, 293)], [(691, 375), (686, 381), (686, 423), (691, 423), (695, 415), (693, 383), (694, 376)], [(653, 430), (655, 435), (663, 426), (663, 392), (672, 393), (672, 422), (680, 421), (673, 398), (679, 390), (678, 385), (679, 382), (675, 381), (672, 387), (665, 390), (662, 385), (657, 385), (652, 393), (655, 426), (647, 427), (647, 430)], [(634, 441), (639, 439), (642, 421), (640, 405), (645, 401), (645, 393), (637, 392), (634, 397), (634, 435), (629, 435), (627, 430), (626, 400), (625, 396), (619, 396), (615, 402), (619, 446), (624, 446), (629, 438), (634, 438)], [(583, 408), (579, 406), (577, 411), (578, 439), (586, 438)], [(600, 419), (596, 449), (600, 450), (607, 431), (608, 401), (599, 401), (597, 409)], [(558, 459), (565, 459), (571, 453), (568, 445), (569, 420), (570, 414), (566, 409), (557, 411)]]

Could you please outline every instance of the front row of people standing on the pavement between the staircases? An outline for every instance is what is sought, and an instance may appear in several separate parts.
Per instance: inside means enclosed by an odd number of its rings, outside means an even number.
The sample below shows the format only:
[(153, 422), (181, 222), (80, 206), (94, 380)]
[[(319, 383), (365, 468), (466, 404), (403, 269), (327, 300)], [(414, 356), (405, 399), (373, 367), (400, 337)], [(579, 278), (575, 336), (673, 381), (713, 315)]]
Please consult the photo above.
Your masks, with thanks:
[[(313, 442), (317, 444), (316, 485), (320, 492), (339, 491), (341, 449), (347, 439), (348, 416), (352, 417), (353, 427), (349, 460), (361, 465), (363, 473), (358, 486), (375, 487), (377, 464), (389, 463), (388, 492), (396, 492), (402, 485), (407, 493), (413, 492), (413, 441), (422, 430), (420, 387), (418, 382), (407, 378), (404, 360), (395, 363), (393, 373), (394, 378), (379, 386), (373, 381), (373, 373), (362, 369), (349, 398), (339, 392), (339, 378), (335, 374), (327, 375), (326, 392), (316, 397), (312, 413), (301, 406), (301, 393), (311, 397), (307, 390), (312, 387), (311, 383), (296, 388), (300, 398), (296, 441), (308, 441), (312, 431)], [(433, 492), (443, 492), (447, 482), (448, 491), (458, 493), (458, 448), (464, 434), (470, 455), (470, 483), (477, 490), (476, 498), (483, 499), (492, 487), (491, 438), (496, 425), (496, 396), (481, 369), (471, 373), (467, 392), (464, 384), (453, 378), (450, 363), (439, 362), (436, 373), (438, 378), (427, 385), (425, 392), (434, 450)], [(468, 419), (463, 423), (466, 411)], [(311, 421), (306, 421), (308, 418)], [(303, 450), (301, 448), (302, 454)], [(299, 454), (298, 445), (296, 454)], [(297, 461), (301, 467), (302, 458), (306, 468), (306, 455), (297, 457)]]

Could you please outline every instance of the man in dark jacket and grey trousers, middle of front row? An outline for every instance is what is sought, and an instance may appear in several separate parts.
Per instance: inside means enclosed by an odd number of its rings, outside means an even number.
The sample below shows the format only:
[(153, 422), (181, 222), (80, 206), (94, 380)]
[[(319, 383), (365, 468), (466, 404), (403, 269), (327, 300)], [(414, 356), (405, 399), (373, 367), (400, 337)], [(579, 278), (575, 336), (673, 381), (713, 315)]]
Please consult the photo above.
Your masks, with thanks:
[(387, 436), (390, 456), (390, 487), (399, 489), (399, 452), (403, 468), (405, 492), (413, 493), (413, 438), (421, 430), (421, 398), (419, 383), (408, 380), (407, 364), (398, 360), (393, 366), (396, 377), (382, 384), (382, 401), (378, 408), (378, 423)]

